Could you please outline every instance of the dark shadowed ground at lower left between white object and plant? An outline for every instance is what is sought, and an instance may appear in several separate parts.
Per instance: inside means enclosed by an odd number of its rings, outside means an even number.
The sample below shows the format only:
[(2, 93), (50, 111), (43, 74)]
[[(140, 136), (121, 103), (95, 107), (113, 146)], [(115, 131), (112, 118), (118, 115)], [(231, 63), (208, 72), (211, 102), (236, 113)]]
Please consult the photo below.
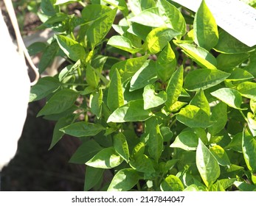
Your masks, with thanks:
[(77, 141), (63, 138), (48, 151), (54, 124), (36, 118), (39, 110), (30, 104), (18, 151), (1, 171), (1, 191), (83, 191), (84, 168), (69, 163)]

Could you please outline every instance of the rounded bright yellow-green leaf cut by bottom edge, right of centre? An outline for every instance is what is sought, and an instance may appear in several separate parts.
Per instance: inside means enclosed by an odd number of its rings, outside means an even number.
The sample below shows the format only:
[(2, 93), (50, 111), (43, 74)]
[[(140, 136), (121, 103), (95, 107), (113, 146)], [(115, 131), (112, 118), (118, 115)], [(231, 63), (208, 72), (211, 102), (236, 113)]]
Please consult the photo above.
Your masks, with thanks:
[(161, 191), (183, 191), (184, 185), (179, 177), (170, 174), (161, 182), (160, 188)]

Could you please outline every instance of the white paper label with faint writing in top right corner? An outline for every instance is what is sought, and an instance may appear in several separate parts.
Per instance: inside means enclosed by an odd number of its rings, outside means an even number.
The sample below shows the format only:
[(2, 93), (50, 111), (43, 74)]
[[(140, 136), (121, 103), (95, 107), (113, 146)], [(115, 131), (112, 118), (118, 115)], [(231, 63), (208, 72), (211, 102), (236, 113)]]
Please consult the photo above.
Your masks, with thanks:
[[(196, 12), (201, 0), (173, 0)], [(247, 46), (256, 45), (256, 10), (238, 0), (205, 0), (216, 23)]]

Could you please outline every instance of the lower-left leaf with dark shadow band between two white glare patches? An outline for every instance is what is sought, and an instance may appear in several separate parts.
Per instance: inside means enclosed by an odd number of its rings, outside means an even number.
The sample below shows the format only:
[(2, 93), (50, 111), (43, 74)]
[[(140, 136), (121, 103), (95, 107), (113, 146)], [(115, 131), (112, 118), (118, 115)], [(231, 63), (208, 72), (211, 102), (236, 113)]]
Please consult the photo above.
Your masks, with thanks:
[(111, 146), (95, 154), (91, 160), (86, 162), (86, 165), (94, 168), (114, 168), (119, 166), (122, 160), (122, 157)]

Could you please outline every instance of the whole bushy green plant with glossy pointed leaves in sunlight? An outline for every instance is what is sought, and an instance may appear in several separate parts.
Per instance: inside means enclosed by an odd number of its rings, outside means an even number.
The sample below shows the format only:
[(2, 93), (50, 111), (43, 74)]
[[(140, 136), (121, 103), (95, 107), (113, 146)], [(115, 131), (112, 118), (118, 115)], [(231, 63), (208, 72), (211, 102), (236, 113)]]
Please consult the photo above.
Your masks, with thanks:
[[(204, 1), (192, 13), (94, 0), (80, 17), (61, 11), (72, 2), (41, 1), (41, 28), (56, 35), (30, 53), (43, 51), (41, 73), (58, 55), (69, 65), (30, 102), (46, 98), (38, 116), (57, 121), (49, 149), (65, 134), (83, 142), (70, 162), (86, 164), (85, 190), (254, 191), (255, 48), (218, 28)], [(105, 170), (114, 177), (101, 185)]]

